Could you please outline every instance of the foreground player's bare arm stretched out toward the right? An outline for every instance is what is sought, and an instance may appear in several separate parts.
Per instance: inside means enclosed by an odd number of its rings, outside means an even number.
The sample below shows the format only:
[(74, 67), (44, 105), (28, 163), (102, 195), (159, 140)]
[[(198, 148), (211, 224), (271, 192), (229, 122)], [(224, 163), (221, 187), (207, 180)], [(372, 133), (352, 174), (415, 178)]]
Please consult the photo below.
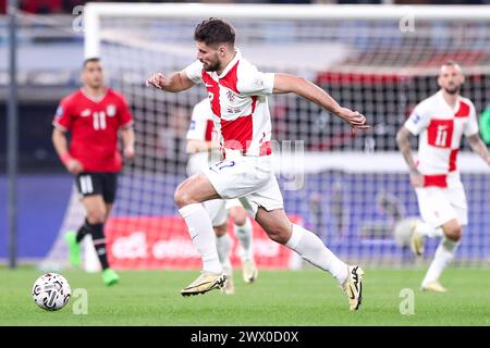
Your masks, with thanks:
[(314, 83), (291, 74), (274, 74), (273, 94), (289, 92), (322, 107), (347, 122), (353, 128), (369, 128), (366, 117), (362, 113), (341, 107), (327, 91)]

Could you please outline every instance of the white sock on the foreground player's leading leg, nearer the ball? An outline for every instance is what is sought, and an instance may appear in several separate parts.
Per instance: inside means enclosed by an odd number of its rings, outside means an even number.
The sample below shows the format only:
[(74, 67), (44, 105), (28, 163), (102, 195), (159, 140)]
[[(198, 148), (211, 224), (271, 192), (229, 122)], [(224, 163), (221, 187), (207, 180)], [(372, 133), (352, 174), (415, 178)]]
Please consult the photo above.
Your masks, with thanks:
[(188, 204), (181, 208), (179, 212), (184, 217), (188, 234), (203, 259), (203, 271), (221, 274), (223, 270), (216, 249), (215, 229), (203, 204)]

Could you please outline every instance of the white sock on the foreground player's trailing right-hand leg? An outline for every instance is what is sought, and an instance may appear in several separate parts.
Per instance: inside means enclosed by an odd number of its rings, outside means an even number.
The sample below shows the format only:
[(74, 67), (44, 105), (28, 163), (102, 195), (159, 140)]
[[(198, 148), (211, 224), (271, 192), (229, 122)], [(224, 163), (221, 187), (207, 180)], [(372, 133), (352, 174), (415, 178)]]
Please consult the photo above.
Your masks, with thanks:
[(309, 263), (330, 272), (339, 284), (342, 285), (347, 278), (347, 265), (339, 260), (313, 232), (293, 224), (291, 238), (285, 246)]

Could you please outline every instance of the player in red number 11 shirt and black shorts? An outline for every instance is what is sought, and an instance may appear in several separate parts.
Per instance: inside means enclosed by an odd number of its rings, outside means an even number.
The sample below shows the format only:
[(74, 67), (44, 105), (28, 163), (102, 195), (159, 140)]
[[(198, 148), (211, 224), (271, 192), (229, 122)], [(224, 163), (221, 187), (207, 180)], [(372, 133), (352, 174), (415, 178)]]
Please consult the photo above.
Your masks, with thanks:
[[(84, 86), (63, 98), (53, 121), (52, 141), (66, 170), (76, 176), (87, 216), (78, 232), (65, 235), (70, 246), (70, 261), (79, 265), (79, 243), (90, 234), (102, 266), (107, 285), (117, 284), (118, 274), (107, 259), (106, 223), (115, 198), (118, 172), (122, 158), (118, 149), (121, 129), (123, 152), (134, 157), (133, 117), (125, 99), (103, 84), (103, 70), (99, 59), (85, 60), (82, 80)], [(66, 133), (72, 139), (70, 150)]]

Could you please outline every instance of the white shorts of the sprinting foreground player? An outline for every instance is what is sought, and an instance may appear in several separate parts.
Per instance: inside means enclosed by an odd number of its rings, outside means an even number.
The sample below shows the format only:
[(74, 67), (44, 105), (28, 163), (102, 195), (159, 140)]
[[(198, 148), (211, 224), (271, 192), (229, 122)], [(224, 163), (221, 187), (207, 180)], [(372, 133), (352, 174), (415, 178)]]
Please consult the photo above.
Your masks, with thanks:
[(270, 211), (283, 209), (282, 194), (272, 170), (272, 156), (229, 157), (204, 174), (223, 199), (238, 198), (255, 217), (259, 207)]

